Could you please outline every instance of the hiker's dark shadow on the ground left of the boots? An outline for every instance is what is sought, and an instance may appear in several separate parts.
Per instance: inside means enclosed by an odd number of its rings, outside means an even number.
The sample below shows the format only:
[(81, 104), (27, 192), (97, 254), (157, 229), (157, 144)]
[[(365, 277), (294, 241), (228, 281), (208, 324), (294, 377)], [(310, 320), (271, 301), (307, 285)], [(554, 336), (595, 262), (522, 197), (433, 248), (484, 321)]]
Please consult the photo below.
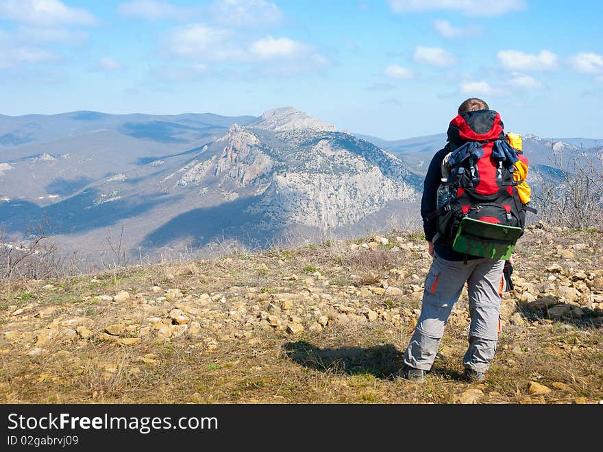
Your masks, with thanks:
[(323, 372), (373, 374), (389, 378), (402, 367), (403, 354), (393, 344), (370, 348), (320, 348), (306, 341), (287, 342), (283, 353), (296, 364)]

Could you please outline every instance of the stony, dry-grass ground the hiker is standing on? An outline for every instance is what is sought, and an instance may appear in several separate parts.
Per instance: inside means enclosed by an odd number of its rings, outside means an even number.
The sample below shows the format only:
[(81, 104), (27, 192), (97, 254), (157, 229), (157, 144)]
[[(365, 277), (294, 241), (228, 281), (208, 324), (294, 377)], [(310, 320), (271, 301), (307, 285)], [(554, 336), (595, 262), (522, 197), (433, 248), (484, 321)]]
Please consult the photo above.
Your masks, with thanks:
[(125, 267), (0, 294), (2, 403), (600, 403), (603, 233), (530, 226), (487, 381), (466, 292), (422, 384), (393, 379), (430, 257), (417, 232)]

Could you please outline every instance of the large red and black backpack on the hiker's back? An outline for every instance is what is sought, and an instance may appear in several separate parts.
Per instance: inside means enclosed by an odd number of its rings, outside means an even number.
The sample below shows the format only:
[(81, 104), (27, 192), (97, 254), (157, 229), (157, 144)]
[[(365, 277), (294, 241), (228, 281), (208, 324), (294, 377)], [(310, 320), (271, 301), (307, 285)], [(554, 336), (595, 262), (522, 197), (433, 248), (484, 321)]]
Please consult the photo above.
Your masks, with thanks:
[[(524, 233), (526, 211), (513, 179), (517, 154), (504, 139), (500, 115), (467, 112), (452, 119), (447, 199), (427, 219), (436, 219), (434, 241), (482, 257), (510, 256)], [(442, 187), (444, 188), (444, 187)], [(463, 221), (464, 219), (467, 219)]]

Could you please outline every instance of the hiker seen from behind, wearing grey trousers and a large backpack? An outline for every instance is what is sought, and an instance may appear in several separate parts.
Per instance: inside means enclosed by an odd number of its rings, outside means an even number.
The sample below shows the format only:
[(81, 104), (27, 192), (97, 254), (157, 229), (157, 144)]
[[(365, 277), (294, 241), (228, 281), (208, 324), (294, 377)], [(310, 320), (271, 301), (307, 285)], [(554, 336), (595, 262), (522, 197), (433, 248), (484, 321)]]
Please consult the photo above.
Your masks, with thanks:
[[(461, 150), (460, 147), (466, 143), (469, 145), (477, 143), (473, 145), (473, 148), (481, 152), (481, 154), (476, 154), (478, 156), (483, 156), (486, 151), (492, 153), (489, 158), (480, 159), (486, 160), (486, 163), (480, 161), (476, 164), (476, 172), (480, 173), (478, 188), (482, 182), (484, 185), (488, 183), (492, 185), (493, 182), (489, 182), (487, 177), (490, 176), (494, 180), (496, 171), (499, 171), (493, 158), (495, 152), (499, 155), (506, 153), (511, 157), (515, 155), (512, 149), (510, 151), (507, 148), (501, 150), (503, 145), (500, 144), (500, 141), (504, 140), (503, 127), (500, 115), (490, 110), (488, 104), (482, 99), (471, 97), (465, 100), (458, 107), (458, 116), (450, 121), (446, 146), (436, 152), (429, 165), (423, 185), (421, 217), (423, 217), (423, 230), (428, 241), (429, 254), (433, 257), (433, 261), (425, 280), (421, 314), (404, 352), (404, 367), (395, 372), (395, 375), (406, 380), (421, 382), (425, 379), (426, 372), (432, 368), (445, 324), (465, 282), (467, 282), (469, 294), (471, 324), (469, 326), (469, 346), (463, 358), (465, 368), (463, 378), (469, 381), (483, 381), (494, 357), (500, 333), (500, 303), (504, 292), (503, 267), (505, 260), (480, 257), (452, 249), (450, 243), (445, 240), (445, 237), (442, 237), (443, 230), (439, 222), (442, 221), (445, 214), (443, 211), (439, 213), (440, 209), (436, 208), (436, 193), (441, 181), (445, 181), (452, 171), (447, 166), (448, 163), (444, 163), (445, 157), (447, 162), (456, 158), (454, 154), (450, 153), (457, 149)], [(508, 143), (505, 142), (505, 145), (508, 146)], [(517, 156), (513, 159), (517, 161)], [(482, 166), (480, 167), (480, 165)], [(509, 164), (509, 166), (512, 165)], [(471, 168), (471, 174), (473, 174), (473, 169), (475, 168)], [(452, 171), (451, 177), (460, 176), (460, 173), (463, 172), (458, 169), (456, 171), (458, 174)], [(465, 176), (467, 172), (469, 171), (465, 172)], [(508, 172), (506, 176), (510, 180), (508, 185), (513, 186), (511, 172)], [(494, 188), (500, 189), (496, 186)], [(513, 189), (510, 189), (510, 192), (513, 192)], [(479, 209), (481, 208), (482, 206), (479, 207)], [(486, 210), (487, 207), (484, 207), (484, 211)], [(506, 212), (506, 215), (511, 217), (509, 211)], [(467, 212), (463, 216), (467, 216)], [(515, 215), (513, 218), (516, 219), (517, 216)], [(493, 219), (492, 222), (497, 221), (497, 219)]]

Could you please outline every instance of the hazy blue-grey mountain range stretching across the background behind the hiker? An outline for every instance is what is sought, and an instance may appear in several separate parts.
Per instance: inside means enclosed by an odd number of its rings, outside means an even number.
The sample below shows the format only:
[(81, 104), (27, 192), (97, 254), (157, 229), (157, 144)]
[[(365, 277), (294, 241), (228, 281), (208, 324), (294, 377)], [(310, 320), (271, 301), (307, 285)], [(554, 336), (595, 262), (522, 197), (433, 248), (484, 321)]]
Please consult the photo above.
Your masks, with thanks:
[[(547, 165), (553, 149), (577, 149), (569, 141), (526, 136), (524, 149)], [(122, 231), (124, 249), (151, 254), (365, 233), (416, 222), (426, 164), (444, 143), (355, 136), (294, 108), (0, 115), (0, 224), (13, 238), (43, 224), (91, 255)]]

